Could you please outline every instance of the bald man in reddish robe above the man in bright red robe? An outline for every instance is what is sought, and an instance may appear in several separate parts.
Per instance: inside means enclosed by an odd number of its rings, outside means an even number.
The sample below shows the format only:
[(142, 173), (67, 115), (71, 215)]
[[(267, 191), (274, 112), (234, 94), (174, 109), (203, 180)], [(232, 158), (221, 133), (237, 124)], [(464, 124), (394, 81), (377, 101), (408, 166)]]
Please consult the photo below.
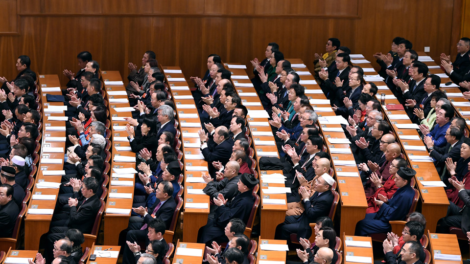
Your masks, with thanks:
[[(401, 155), (401, 148), (400, 145), (397, 143), (388, 144), (387, 149), (385, 150), (385, 162), (378, 167), (377, 163), (368, 162), (366, 165), (365, 163), (361, 163), (359, 166), (362, 167), (362, 171), (366, 173), (373, 173), (375, 172), (376, 175), (382, 178), (382, 185), (387, 181), (387, 179), (392, 175), (390, 173), (390, 166), (392, 166), (392, 160), (399, 157)], [(378, 171), (377, 171), (378, 169)], [(369, 174), (369, 176), (370, 176)], [(371, 179), (368, 179), (364, 185), (364, 192), (366, 197), (371, 197), (376, 192)]]

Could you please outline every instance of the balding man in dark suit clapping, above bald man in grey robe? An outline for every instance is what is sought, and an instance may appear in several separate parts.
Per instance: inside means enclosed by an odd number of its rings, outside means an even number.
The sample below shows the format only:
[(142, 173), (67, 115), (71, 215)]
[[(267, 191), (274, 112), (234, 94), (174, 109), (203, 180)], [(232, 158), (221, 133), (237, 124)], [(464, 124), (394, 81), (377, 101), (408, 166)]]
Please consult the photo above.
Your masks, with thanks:
[(220, 161), (222, 164), (226, 164), (232, 154), (234, 141), (229, 137), (229, 132), (224, 126), (216, 128), (211, 138), (208, 138), (208, 135), (200, 130), (199, 138), (201, 140), (201, 152), (204, 160), (209, 165), (209, 174), (215, 179), (217, 170), (212, 166), (212, 162)]

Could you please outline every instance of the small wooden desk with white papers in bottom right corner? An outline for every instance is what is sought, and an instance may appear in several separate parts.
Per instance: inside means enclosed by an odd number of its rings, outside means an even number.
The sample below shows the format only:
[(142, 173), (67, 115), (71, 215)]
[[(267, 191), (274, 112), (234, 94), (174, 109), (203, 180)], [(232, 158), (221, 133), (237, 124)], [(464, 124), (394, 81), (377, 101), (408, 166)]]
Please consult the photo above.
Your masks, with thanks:
[[(426, 225), (427, 226), (427, 225)], [(434, 234), (429, 230), (427, 231), (429, 238), (429, 246), (431, 251), (432, 263), (434, 264), (448, 264), (448, 263), (458, 263), (455, 261), (448, 262), (442, 260), (435, 260), (434, 254), (452, 254), (452, 255), (462, 255), (460, 253), (459, 242), (457, 241), (457, 236), (454, 234)], [(460, 262), (462, 263), (462, 261)]]

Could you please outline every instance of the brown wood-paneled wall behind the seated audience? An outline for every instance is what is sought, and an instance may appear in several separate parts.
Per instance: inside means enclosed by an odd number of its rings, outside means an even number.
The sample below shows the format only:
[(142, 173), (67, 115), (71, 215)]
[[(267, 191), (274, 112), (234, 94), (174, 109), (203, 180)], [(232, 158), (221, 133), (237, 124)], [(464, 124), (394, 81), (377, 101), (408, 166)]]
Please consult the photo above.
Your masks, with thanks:
[[(145, 50), (159, 63), (201, 75), (206, 58), (247, 64), (263, 59), (269, 42), (309, 68), (328, 38), (353, 53), (387, 52), (402, 36), (431, 56), (455, 55), (462, 5), (468, 0), (0, 0), (0, 76), (16, 76), (21, 54), (42, 74), (76, 71), (76, 54), (88, 50), (101, 68), (140, 65)], [(5, 10), (8, 10), (6, 12)]]

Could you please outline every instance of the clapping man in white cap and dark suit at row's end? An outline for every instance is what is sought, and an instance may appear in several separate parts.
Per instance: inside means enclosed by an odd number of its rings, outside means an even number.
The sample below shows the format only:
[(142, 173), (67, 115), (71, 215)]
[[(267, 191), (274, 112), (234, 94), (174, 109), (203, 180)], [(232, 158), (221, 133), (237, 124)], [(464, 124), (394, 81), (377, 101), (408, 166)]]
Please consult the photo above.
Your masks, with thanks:
[(319, 217), (328, 216), (334, 195), (331, 186), (334, 179), (323, 174), (315, 181), (314, 193), (311, 194), (304, 186), (299, 188), (305, 211), (300, 216), (286, 216), (283, 223), (277, 226), (275, 239), (289, 240), (290, 234), (297, 234), (297, 239), (309, 238), (312, 234), (310, 223)]

